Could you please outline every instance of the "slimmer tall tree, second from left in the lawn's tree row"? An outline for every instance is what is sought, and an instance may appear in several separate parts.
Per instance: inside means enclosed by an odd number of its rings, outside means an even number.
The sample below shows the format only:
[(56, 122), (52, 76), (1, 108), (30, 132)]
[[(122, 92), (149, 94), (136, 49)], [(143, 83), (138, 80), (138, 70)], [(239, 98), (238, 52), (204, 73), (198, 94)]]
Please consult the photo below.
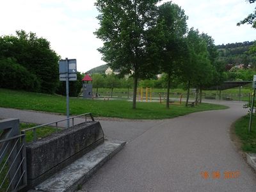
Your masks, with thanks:
[(167, 74), (167, 97), (166, 108), (169, 108), (170, 83), (179, 74), (184, 54), (186, 54), (186, 44), (184, 44), (184, 35), (187, 31), (185, 15), (177, 4), (172, 2), (164, 3), (159, 6), (158, 24), (161, 26), (161, 72)]

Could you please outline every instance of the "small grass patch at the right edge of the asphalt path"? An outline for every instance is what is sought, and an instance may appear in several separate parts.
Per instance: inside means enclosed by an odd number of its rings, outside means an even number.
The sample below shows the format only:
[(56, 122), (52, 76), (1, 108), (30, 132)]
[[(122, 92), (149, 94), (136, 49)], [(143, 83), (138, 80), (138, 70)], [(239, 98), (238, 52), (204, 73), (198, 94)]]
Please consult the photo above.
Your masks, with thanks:
[(256, 116), (253, 116), (252, 129), (250, 132), (248, 132), (249, 120), (249, 115), (243, 116), (237, 120), (235, 123), (235, 132), (241, 140), (242, 150), (244, 150), (244, 152), (256, 153)]

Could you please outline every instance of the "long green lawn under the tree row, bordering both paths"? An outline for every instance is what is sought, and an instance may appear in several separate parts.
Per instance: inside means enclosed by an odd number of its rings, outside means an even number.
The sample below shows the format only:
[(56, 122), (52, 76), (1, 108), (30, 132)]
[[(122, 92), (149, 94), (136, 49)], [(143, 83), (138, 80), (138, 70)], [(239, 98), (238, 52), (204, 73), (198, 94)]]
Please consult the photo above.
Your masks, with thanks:
[[(66, 97), (0, 89), (0, 107), (65, 114)], [(70, 114), (72, 115), (90, 112), (93, 116), (129, 119), (173, 118), (197, 111), (226, 108), (226, 106), (203, 103), (195, 108), (186, 108), (184, 104), (173, 104), (170, 105), (170, 109), (166, 109), (165, 105), (159, 102), (137, 102), (137, 109), (132, 109), (132, 102), (125, 100), (70, 99)]]

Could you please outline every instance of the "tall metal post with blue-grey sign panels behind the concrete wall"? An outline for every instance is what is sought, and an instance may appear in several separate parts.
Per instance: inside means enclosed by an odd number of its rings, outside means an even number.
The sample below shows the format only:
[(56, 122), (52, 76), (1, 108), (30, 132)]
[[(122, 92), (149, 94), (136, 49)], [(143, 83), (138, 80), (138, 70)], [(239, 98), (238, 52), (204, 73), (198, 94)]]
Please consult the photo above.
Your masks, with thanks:
[(66, 93), (67, 93), (67, 128), (69, 128), (69, 81), (76, 81), (76, 60), (65, 60), (59, 61), (59, 74), (60, 81), (66, 81)]

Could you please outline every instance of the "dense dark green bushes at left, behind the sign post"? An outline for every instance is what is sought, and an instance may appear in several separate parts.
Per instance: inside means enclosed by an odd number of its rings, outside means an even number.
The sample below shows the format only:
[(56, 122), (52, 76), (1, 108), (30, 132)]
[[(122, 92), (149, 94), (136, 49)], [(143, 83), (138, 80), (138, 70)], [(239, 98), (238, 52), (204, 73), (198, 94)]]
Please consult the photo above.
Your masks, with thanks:
[[(0, 88), (65, 95), (65, 82), (59, 81), (60, 56), (45, 38), (35, 33), (16, 31), (16, 35), (0, 36)], [(77, 96), (82, 87), (70, 82), (70, 96)]]

